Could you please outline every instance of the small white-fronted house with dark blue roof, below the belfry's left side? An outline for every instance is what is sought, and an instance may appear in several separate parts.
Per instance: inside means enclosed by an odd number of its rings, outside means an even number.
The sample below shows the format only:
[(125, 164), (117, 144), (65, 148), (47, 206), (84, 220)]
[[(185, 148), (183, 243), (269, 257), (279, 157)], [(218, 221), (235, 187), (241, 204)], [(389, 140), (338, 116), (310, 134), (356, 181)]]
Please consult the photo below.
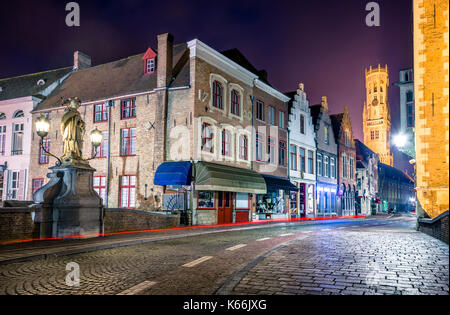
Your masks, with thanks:
[(370, 215), (378, 212), (378, 154), (364, 143), (355, 139), (357, 199), (356, 210), (359, 214)]

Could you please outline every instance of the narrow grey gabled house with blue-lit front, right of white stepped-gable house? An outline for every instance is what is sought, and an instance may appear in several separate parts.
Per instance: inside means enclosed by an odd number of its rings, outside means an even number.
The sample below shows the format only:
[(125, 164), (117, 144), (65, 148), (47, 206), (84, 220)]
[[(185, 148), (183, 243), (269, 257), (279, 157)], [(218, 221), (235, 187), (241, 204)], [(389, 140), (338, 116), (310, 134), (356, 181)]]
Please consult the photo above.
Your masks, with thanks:
[(321, 104), (310, 107), (316, 132), (317, 215), (337, 215), (338, 150), (328, 110), (327, 97)]

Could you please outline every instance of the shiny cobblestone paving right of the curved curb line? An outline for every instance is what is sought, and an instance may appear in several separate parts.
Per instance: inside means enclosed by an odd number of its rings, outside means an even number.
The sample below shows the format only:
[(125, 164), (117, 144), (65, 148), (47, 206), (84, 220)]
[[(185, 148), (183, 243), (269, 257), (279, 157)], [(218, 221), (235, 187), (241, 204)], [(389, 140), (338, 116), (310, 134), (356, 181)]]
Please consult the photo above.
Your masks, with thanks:
[(448, 295), (449, 247), (393, 227), (331, 230), (273, 252), (229, 294)]

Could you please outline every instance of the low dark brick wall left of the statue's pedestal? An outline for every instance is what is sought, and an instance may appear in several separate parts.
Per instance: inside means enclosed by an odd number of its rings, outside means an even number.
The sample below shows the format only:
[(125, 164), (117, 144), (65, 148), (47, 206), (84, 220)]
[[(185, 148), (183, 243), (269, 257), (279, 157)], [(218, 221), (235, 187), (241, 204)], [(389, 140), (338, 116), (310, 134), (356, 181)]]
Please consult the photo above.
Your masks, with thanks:
[(39, 225), (26, 207), (0, 208), (0, 241), (39, 237)]

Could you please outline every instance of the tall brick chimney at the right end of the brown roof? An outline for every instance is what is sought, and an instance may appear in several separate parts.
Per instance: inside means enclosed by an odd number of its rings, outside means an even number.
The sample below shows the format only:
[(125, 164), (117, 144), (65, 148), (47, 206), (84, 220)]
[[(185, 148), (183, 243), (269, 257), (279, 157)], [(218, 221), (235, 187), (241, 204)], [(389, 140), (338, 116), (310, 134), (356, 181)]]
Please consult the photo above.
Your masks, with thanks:
[(173, 35), (158, 35), (157, 87), (167, 87), (172, 80)]

